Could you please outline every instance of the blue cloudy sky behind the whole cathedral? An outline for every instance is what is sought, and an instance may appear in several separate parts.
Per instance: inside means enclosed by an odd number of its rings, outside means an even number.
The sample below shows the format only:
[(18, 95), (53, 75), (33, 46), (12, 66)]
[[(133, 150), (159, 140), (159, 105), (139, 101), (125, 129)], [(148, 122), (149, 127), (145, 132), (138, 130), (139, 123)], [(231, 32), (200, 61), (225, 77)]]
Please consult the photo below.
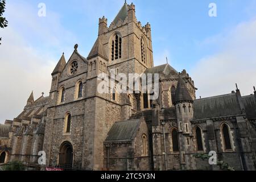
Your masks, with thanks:
[[(98, 18), (109, 24), (123, 0), (7, 1), (9, 26), (0, 30), (0, 123), (16, 117), (34, 90), (48, 95), (62, 52), (66, 59), (79, 44), (88, 56), (97, 38)], [(127, 3), (132, 1), (127, 0)], [(208, 15), (216, 3), (217, 17)], [(46, 16), (38, 16), (39, 3)], [(237, 83), (243, 95), (256, 85), (256, 0), (134, 0), (137, 19), (152, 28), (155, 65), (166, 63), (195, 80), (197, 97), (230, 93)]]

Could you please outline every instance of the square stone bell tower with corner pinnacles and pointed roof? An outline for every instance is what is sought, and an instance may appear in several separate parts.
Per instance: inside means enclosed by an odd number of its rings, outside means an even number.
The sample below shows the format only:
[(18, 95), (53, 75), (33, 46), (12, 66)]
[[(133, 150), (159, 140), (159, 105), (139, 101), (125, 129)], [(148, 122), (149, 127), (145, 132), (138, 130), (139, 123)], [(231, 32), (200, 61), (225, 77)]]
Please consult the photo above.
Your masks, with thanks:
[(141, 74), (154, 67), (151, 26), (137, 20), (133, 3), (125, 2), (109, 27), (108, 19), (100, 18), (97, 39), (106, 53), (108, 70)]

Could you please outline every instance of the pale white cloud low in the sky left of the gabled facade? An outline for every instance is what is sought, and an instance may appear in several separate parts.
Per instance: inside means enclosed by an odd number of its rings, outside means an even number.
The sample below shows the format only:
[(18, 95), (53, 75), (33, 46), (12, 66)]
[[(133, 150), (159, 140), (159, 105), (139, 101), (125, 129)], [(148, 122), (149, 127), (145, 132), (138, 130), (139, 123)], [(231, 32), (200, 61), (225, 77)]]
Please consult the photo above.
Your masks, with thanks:
[(42, 92), (48, 94), (54, 68), (54, 61), (27, 46), (10, 27), (6, 28), (3, 37), (5, 42), (0, 49), (0, 123), (13, 119), (23, 110), (32, 90), (35, 99)]

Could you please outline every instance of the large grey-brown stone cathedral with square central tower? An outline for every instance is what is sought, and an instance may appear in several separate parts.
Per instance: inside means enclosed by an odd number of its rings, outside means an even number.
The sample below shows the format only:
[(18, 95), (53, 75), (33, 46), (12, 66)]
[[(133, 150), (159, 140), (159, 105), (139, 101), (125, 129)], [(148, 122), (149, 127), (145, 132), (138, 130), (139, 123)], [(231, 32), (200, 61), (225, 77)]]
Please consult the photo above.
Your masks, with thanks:
[[(20, 161), (32, 169), (220, 170), (195, 155), (215, 151), (235, 170), (255, 170), (256, 90), (196, 99), (185, 71), (154, 66), (151, 26), (142, 25), (126, 2), (87, 57), (76, 44), (52, 72), (49, 96), (33, 93), (22, 113), (0, 125), (0, 166)], [(98, 75), (159, 75), (159, 97), (148, 93), (99, 93)], [(115, 88), (111, 88), (110, 90)], [(113, 91), (114, 91), (113, 90)], [(46, 164), (39, 165), (39, 151)], [(43, 166), (43, 167), (42, 167)]]

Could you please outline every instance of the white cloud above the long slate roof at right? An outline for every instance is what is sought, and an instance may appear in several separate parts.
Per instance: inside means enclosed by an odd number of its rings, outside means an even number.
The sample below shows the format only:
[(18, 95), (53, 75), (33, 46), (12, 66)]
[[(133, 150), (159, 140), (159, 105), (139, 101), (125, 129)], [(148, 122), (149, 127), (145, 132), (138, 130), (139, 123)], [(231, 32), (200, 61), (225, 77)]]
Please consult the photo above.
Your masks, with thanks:
[(206, 39), (201, 45), (217, 46), (218, 52), (204, 57), (192, 68), (192, 77), (199, 90), (197, 97), (231, 93), (253, 93), (256, 85), (256, 20), (238, 24), (223, 34)]

